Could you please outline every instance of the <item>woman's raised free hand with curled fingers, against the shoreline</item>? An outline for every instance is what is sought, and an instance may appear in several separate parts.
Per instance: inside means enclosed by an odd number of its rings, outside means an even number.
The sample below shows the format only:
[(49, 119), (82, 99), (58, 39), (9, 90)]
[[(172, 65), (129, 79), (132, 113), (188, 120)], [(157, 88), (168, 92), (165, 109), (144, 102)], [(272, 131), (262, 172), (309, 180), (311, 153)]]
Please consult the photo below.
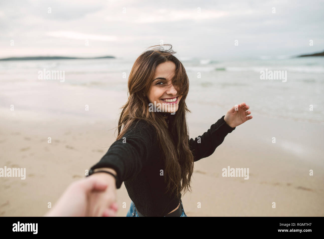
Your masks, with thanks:
[(232, 128), (243, 124), (245, 121), (252, 119), (251, 111), (249, 111), (250, 107), (244, 102), (233, 106), (230, 110), (227, 111), (224, 120), (225, 122)]

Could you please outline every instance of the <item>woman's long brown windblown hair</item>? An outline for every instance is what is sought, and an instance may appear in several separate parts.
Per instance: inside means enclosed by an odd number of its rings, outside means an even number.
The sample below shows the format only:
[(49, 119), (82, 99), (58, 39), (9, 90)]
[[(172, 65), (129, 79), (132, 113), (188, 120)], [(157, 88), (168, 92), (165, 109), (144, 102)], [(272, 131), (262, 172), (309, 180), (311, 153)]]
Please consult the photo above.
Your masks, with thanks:
[[(163, 46), (170, 46), (164, 49)], [(191, 175), (193, 172), (193, 155), (189, 148), (189, 133), (186, 122), (186, 113), (191, 112), (186, 105), (186, 97), (189, 91), (189, 79), (182, 63), (173, 54), (171, 44), (154, 45), (152, 50), (143, 52), (134, 62), (128, 78), (128, 101), (122, 106), (121, 116), (118, 122), (118, 136), (122, 138), (136, 119), (144, 119), (152, 124), (157, 133), (158, 143), (162, 149), (162, 158), (165, 159), (165, 182), (169, 191), (177, 194), (190, 191)], [(149, 47), (149, 48), (151, 48)], [(149, 100), (144, 94), (148, 92), (154, 78), (156, 67), (166, 61), (172, 61), (176, 65), (172, 84), (179, 89), (182, 95), (178, 110), (170, 120), (170, 132), (167, 123), (161, 113), (149, 111)], [(165, 127), (161, 127), (165, 125)], [(123, 129), (121, 130), (121, 127)], [(182, 183), (181, 183), (182, 181)], [(181, 186), (180, 186), (181, 185)]]

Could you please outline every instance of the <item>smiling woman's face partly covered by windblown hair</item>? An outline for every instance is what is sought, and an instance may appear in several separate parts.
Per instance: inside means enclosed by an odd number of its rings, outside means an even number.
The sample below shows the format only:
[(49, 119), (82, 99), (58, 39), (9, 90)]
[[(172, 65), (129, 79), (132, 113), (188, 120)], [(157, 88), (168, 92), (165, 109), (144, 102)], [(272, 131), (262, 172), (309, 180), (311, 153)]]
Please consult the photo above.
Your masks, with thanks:
[(175, 69), (176, 65), (172, 61), (159, 64), (147, 93), (150, 103), (154, 104), (154, 101), (156, 101), (156, 107), (160, 103), (162, 109), (164, 108), (163, 111), (168, 113), (174, 113), (178, 110), (182, 98), (182, 95), (178, 93), (179, 89), (176, 89), (171, 82)]

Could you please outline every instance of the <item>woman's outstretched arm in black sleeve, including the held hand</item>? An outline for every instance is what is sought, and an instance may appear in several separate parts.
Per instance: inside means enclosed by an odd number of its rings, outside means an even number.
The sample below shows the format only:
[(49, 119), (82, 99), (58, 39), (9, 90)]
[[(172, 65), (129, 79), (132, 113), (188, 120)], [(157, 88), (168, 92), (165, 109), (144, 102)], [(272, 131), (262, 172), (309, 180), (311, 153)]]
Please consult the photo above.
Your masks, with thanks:
[(88, 214), (90, 216), (115, 216), (111, 206), (116, 202), (116, 189), (121, 183), (134, 178), (152, 158), (155, 151), (156, 131), (145, 120), (134, 122), (120, 140), (115, 141), (108, 152), (91, 170), (107, 170), (116, 175), (115, 178), (105, 172), (97, 172), (89, 177), (106, 182), (108, 187), (103, 192), (95, 192), (89, 196)]

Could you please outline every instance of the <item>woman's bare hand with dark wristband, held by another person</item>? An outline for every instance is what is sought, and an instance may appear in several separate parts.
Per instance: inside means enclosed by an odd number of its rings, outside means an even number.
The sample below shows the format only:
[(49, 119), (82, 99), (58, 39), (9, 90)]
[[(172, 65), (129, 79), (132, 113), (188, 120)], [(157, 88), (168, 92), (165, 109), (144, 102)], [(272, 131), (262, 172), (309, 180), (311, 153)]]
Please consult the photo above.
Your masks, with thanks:
[(87, 208), (90, 217), (115, 217), (118, 210), (116, 203), (116, 180), (104, 172), (94, 173), (89, 178), (96, 178), (99, 182), (107, 183), (108, 187), (101, 192), (94, 192), (89, 195)]

